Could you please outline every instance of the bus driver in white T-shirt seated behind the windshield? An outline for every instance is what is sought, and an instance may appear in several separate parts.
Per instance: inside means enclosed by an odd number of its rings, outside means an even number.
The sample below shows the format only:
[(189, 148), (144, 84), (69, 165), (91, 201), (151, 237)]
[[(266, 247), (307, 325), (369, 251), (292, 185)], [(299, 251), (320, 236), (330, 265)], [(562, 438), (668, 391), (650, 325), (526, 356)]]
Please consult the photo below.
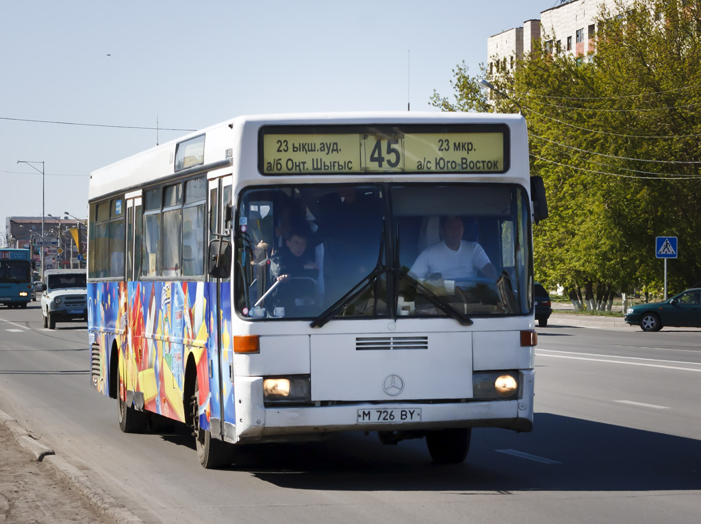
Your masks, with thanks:
[(496, 269), (477, 242), (463, 240), (465, 226), (458, 216), (440, 218), (442, 241), (421, 252), (409, 276), (416, 280), (438, 277), (443, 280), (475, 278), (481, 271), (486, 278), (496, 280)]

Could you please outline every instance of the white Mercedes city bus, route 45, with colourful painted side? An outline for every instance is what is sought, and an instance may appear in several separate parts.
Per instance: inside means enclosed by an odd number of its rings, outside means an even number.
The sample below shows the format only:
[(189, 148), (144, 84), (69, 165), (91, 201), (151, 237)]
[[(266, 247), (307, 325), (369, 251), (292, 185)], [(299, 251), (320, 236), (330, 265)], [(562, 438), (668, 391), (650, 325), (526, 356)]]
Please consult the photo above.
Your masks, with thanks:
[(522, 116), (241, 116), (89, 199), (91, 379), (122, 431), (185, 422), (211, 468), (353, 430), (461, 462), (472, 427), (531, 430), (547, 208)]

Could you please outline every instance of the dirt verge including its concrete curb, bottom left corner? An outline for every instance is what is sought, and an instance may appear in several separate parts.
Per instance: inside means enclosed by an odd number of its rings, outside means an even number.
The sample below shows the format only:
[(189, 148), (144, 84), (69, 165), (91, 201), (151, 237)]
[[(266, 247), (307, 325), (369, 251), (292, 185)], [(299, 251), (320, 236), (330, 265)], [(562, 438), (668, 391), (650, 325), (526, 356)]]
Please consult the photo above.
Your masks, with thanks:
[(0, 523), (142, 523), (0, 410)]

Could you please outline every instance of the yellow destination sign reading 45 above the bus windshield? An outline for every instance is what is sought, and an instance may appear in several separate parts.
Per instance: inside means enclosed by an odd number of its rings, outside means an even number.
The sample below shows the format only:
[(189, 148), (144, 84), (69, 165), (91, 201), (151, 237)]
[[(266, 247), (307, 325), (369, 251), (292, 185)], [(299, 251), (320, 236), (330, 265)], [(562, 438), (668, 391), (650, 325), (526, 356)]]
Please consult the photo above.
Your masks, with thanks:
[(264, 175), (504, 173), (508, 128), (455, 126), (266, 126)]

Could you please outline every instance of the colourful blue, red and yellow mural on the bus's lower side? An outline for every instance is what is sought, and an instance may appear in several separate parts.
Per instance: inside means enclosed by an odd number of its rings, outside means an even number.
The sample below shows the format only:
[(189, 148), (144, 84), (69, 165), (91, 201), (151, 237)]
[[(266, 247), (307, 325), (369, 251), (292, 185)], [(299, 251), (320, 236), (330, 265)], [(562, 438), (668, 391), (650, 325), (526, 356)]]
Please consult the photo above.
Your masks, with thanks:
[[(120, 355), (118, 394), (143, 395), (144, 409), (185, 421), (189, 398), (183, 400), (188, 365), (196, 368), (200, 398), (200, 426), (209, 429), (210, 417), (234, 422), (233, 384), (224, 378), (219, 401), (219, 373), (210, 366), (221, 362), (230, 369), (230, 284), (222, 283), (222, 307), (215, 307), (215, 283), (101, 282), (88, 284), (88, 328), (99, 342), (100, 379), (95, 387), (109, 394), (107, 363), (116, 344)], [(217, 329), (217, 317), (221, 331)], [(223, 351), (219, 352), (221, 332)], [(224, 375), (226, 377), (227, 375)]]

